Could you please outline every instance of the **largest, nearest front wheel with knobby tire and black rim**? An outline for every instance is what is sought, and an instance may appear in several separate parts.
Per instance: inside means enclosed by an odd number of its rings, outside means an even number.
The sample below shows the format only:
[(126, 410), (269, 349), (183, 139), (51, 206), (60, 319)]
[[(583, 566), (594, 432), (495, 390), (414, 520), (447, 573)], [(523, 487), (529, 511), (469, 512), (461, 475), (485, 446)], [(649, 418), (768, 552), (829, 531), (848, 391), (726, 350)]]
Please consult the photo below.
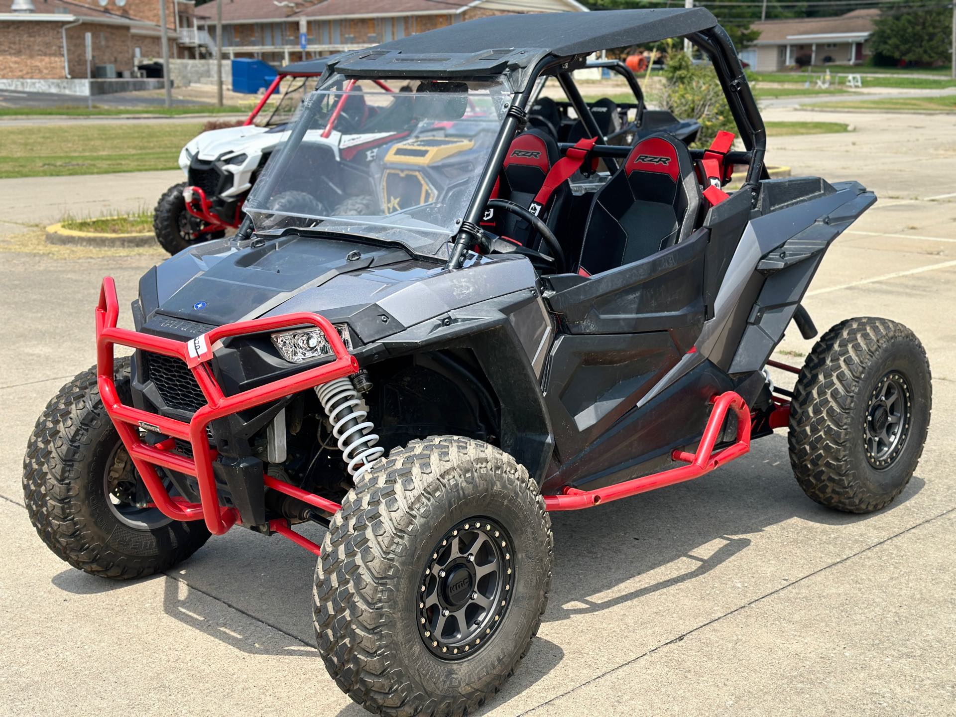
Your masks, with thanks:
[[(429, 561), (442, 554), (443, 540), (448, 551), (460, 545), (453, 537), (458, 531), (464, 543), (471, 534), (466, 526), (497, 535), (485, 545), (501, 544), (501, 558), (513, 572), (501, 571), (511, 582), (500, 589), (500, 599), (490, 600), (500, 620), (475, 619), (480, 627), (470, 650), (449, 646), (443, 653), (430, 639), (426, 643), (420, 615), (427, 598), (420, 596), (427, 595), (424, 582), (438, 582), (438, 571), (426, 574)], [(528, 651), (547, 606), (553, 554), (544, 501), (528, 471), (507, 453), (450, 436), (394, 449), (359, 477), (322, 543), (314, 618), (329, 674), (359, 705), (379, 714), (473, 711)], [(458, 589), (452, 576), (446, 579), (449, 589)], [(466, 599), (478, 594), (470, 590)]]

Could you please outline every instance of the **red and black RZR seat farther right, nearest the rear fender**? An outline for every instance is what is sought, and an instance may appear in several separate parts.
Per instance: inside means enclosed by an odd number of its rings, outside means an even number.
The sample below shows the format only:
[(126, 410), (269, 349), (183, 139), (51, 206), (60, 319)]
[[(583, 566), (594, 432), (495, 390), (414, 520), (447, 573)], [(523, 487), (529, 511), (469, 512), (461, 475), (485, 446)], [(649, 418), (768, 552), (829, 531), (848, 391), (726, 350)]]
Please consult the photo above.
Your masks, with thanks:
[(606, 272), (678, 244), (694, 230), (701, 202), (684, 142), (663, 132), (641, 140), (595, 194), (578, 273)]

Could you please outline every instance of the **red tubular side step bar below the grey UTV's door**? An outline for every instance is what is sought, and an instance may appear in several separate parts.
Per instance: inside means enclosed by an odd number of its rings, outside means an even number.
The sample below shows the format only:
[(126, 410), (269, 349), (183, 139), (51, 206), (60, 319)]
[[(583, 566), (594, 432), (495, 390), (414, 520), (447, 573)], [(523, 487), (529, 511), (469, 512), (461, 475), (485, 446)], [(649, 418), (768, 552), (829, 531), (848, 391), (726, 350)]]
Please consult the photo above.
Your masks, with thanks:
[[(686, 453), (675, 450), (671, 454), (675, 461), (682, 461), (688, 464), (687, 466), (671, 468), (662, 473), (645, 475), (597, 490), (578, 490), (567, 486), (561, 495), (544, 496), (545, 508), (549, 511), (577, 511), (582, 508), (592, 508), (599, 503), (608, 503), (648, 490), (699, 478), (721, 464), (740, 458), (750, 450), (750, 409), (747, 407), (747, 402), (733, 391), (728, 391), (715, 397), (713, 403), (714, 408), (707, 420), (704, 436), (697, 447), (697, 452)], [(737, 438), (733, 444), (714, 453), (714, 444), (720, 436), (728, 410), (732, 410), (737, 415)]]

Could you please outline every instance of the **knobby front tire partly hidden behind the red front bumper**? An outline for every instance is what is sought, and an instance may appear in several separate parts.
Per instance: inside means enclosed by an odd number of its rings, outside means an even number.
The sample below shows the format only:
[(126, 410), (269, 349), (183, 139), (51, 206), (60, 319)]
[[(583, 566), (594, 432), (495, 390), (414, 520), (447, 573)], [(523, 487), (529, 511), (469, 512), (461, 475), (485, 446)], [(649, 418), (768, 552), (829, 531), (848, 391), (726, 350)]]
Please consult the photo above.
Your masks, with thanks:
[[(129, 359), (117, 359), (115, 371), (120, 398), (128, 402)], [(118, 579), (149, 576), (195, 553), (209, 532), (201, 520), (170, 521), (155, 509), (146, 511), (157, 524), (153, 529), (122, 522), (104, 485), (118, 445), (96, 370), (77, 374), (47, 403), (27, 444), (27, 512), (43, 542), (73, 567)]]

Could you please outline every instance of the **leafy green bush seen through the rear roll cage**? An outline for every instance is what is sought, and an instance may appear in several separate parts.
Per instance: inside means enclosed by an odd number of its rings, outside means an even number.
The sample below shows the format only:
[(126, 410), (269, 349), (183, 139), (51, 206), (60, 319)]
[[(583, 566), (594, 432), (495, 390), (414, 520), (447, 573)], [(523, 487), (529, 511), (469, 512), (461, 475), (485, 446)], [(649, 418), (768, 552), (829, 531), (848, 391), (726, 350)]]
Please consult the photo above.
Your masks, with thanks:
[(710, 65), (694, 65), (682, 52), (671, 52), (663, 69), (661, 106), (679, 120), (697, 120), (697, 146), (709, 146), (720, 130), (737, 131), (724, 90)]

